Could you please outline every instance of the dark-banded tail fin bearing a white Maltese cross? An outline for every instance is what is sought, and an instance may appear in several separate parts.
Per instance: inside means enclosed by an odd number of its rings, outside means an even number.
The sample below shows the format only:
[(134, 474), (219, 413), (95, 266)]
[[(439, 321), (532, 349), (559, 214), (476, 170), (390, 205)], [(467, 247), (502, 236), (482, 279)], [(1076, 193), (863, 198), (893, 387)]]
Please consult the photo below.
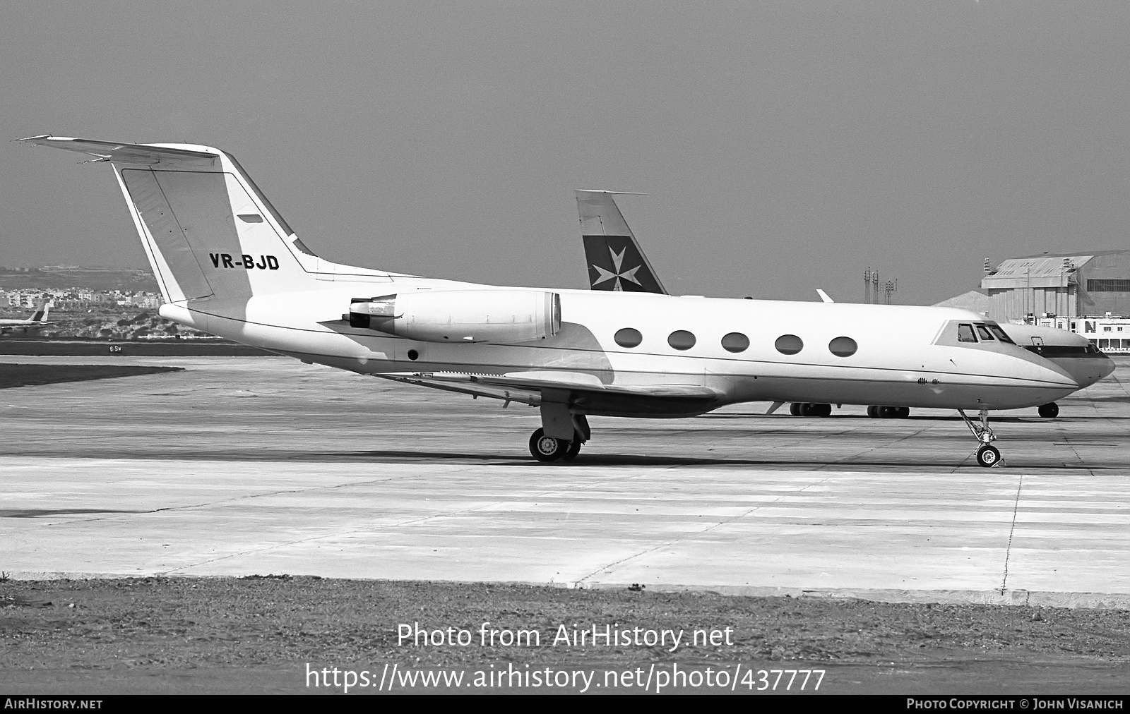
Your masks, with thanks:
[(659, 281), (647, 258), (640, 250), (632, 229), (616, 207), (615, 191), (577, 191), (581, 238), (589, 263), (589, 287), (593, 290), (660, 293)]

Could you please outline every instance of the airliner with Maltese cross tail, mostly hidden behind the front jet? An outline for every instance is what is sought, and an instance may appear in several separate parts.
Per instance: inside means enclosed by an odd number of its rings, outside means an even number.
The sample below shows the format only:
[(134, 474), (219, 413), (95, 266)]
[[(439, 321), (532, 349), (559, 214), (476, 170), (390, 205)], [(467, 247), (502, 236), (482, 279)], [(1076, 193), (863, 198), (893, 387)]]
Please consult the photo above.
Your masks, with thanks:
[[(618, 191), (576, 191), (590, 289), (666, 295), (667, 289), (655, 269), (616, 206), (616, 195), (633, 194)], [(824, 290), (817, 289), (816, 293), (822, 302), (834, 302)], [(1008, 324), (1006, 328), (1007, 336), (1017, 345), (1066, 371), (1079, 389), (1086, 389), (1114, 372), (1114, 362), (1083, 336), (1041, 325)], [(973, 339), (977, 338), (974, 336)], [(982, 336), (981, 339), (986, 338)], [(988, 339), (993, 339), (991, 332)], [(775, 410), (776, 407), (771, 408), (771, 412)], [(793, 401), (789, 411), (793, 416), (827, 417), (832, 413), (832, 404), (826, 401)], [(909, 407), (871, 404), (867, 408), (869, 417), (905, 418), (910, 412)], [(1055, 402), (1040, 404), (1038, 412), (1041, 417), (1054, 418), (1059, 415), (1059, 406)]]

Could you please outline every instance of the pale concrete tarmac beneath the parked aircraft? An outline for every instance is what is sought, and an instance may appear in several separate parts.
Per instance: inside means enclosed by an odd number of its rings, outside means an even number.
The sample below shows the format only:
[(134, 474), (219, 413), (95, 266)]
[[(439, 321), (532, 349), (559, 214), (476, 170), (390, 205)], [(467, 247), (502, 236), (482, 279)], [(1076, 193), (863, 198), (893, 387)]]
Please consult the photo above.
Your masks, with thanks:
[[(183, 372), (0, 390), (0, 569), (287, 573), (905, 602), (1130, 607), (1130, 359), (993, 418), (593, 418), (273, 357), (10, 357)], [(782, 410), (785, 411), (785, 410)]]

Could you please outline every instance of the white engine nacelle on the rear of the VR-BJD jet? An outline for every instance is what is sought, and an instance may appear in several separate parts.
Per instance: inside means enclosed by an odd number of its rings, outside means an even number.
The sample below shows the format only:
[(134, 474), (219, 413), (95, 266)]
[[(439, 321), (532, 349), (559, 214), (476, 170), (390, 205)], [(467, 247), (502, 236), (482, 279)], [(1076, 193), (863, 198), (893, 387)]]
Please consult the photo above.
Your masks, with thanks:
[(349, 324), (424, 342), (530, 342), (562, 328), (544, 290), (420, 290), (354, 298)]

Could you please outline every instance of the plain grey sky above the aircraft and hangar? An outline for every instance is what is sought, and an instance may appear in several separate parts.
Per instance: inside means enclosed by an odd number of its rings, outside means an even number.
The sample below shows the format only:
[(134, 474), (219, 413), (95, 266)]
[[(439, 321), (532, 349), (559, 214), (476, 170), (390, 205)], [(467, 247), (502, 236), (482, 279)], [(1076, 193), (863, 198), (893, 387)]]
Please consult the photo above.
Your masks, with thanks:
[[(1125, 2), (8, 2), (0, 112), (234, 154), (323, 256), (586, 287), (573, 189), (672, 293), (895, 302), (1130, 249)], [(147, 265), (107, 166), (0, 142), (0, 264)]]

